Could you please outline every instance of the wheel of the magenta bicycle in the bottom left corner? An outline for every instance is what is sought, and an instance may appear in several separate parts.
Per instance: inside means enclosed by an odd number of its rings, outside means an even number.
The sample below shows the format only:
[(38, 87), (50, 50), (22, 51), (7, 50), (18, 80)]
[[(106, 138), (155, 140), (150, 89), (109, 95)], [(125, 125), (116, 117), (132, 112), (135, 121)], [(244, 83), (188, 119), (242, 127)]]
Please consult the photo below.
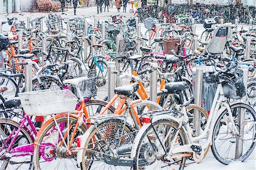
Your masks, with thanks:
[[(0, 119), (0, 169), (33, 169), (32, 156), (14, 156), (15, 152), (8, 152), (8, 147), (11, 145), (11, 140), (7, 137), (14, 139), (15, 133), (18, 133), (20, 124), (13, 120)], [(12, 134), (12, 132), (15, 132)], [(13, 145), (11, 145), (10, 150), (15, 147), (20, 147), (24, 145), (29, 145), (34, 142), (31, 135), (28, 133), (27, 129), (21, 128), (20, 132), (17, 134)]]

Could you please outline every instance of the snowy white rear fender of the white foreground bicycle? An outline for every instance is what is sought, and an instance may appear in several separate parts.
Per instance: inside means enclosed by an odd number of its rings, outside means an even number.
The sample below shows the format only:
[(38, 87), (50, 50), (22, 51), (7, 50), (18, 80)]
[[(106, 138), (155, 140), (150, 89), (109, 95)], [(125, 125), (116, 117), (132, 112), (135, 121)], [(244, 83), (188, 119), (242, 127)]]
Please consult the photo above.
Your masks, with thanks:
[[(154, 116), (151, 119), (151, 123), (153, 124), (154, 122), (162, 120), (162, 119), (164, 119), (164, 120), (171, 120), (171, 121), (176, 122), (177, 124), (180, 123), (180, 120), (178, 120), (174, 116), (171, 116), (171, 115), (168, 115), (168, 114)], [(135, 158), (136, 152), (137, 152), (137, 148), (139, 147), (139, 142), (141, 141), (142, 135), (145, 133), (145, 131), (148, 128), (150, 128), (150, 126), (151, 126), (151, 124), (144, 124), (142, 126), (142, 128), (138, 131), (138, 133), (137, 133), (137, 135), (136, 135), (136, 137), (134, 139), (134, 142), (133, 142), (133, 147), (131, 148), (131, 159)]]

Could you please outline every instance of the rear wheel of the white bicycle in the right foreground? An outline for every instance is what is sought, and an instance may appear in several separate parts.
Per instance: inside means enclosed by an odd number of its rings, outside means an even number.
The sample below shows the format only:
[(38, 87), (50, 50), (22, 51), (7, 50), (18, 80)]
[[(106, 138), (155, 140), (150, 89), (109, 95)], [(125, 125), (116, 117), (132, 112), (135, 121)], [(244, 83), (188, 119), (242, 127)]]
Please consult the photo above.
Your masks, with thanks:
[[(175, 132), (179, 125), (171, 120), (159, 120), (149, 126), (139, 139), (133, 168), (137, 169), (183, 169), (186, 158), (166, 159), (166, 153), (174, 143), (174, 148), (187, 144), (184, 131), (180, 129), (177, 139)], [(175, 141), (174, 141), (175, 140)], [(161, 145), (162, 143), (162, 145)], [(171, 165), (171, 167), (170, 167)]]

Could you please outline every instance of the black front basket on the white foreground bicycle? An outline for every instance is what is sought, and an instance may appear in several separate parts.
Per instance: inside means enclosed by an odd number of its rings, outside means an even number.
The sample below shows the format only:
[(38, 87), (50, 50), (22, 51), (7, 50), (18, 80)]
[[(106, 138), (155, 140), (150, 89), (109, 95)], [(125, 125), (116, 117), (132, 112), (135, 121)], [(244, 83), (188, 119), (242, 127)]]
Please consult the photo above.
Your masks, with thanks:
[(224, 96), (229, 99), (241, 99), (246, 95), (245, 85), (243, 84), (243, 74), (220, 75)]

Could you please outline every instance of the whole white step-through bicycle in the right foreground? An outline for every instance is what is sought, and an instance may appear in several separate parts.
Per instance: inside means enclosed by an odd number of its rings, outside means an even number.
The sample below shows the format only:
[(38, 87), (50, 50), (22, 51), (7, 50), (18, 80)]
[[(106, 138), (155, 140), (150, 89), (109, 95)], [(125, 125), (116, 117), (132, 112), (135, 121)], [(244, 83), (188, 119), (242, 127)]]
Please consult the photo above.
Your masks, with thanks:
[[(215, 68), (218, 69), (216, 65)], [(230, 101), (229, 97), (237, 97), (234, 94), (240, 99), (246, 94), (241, 82), (236, 83), (237, 91), (226, 91), (226, 83), (241, 78), (230, 74), (231, 69), (234, 69), (233, 62), (226, 66), (225, 71), (216, 71), (217, 91), (207, 124), (200, 129), (199, 136), (193, 135), (184, 107), (178, 118), (172, 116), (173, 111), (154, 111), (142, 116), (144, 125), (131, 150), (134, 169), (146, 166), (150, 169), (183, 169), (186, 160), (201, 162), (209, 146), (222, 164), (248, 158), (255, 147), (256, 113), (242, 100)], [(226, 80), (220, 80), (220, 77)]]

